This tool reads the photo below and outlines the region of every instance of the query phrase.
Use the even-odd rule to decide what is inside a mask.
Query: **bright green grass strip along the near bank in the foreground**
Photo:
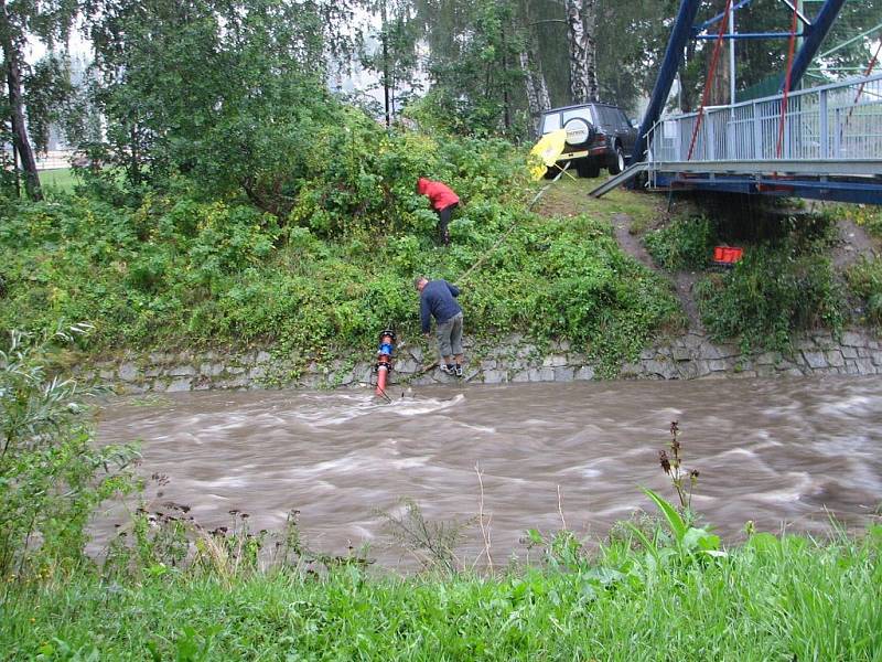
[[[724,558],[616,544],[493,577],[50,575],[3,590],[0,650],[42,660],[879,660],[880,552],[876,526],[825,544],[757,534]]]

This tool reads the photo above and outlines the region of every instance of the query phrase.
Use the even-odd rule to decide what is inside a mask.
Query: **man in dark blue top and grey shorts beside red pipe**
[[[435,321],[441,372],[461,377],[462,308],[456,303],[460,289],[442,278],[429,280],[426,276],[417,277],[413,285],[420,292],[420,323],[424,335],[429,335],[432,317]]]

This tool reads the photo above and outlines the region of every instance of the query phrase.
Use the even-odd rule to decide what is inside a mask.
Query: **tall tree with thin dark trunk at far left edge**
[[[0,0],[0,47],[3,52],[12,141],[24,169],[25,190],[33,200],[40,200],[42,193],[25,124],[24,46],[29,36],[49,46],[66,43],[78,12],[78,0]]]

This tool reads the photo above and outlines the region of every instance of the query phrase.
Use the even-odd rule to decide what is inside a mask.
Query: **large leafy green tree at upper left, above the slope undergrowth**
[[[104,160],[128,180],[175,173],[283,215],[311,130],[332,119],[325,81],[345,62],[346,2],[94,0]]]

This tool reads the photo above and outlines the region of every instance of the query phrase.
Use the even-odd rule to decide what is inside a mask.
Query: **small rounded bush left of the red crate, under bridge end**
[[[676,220],[648,233],[644,242],[656,264],[666,269],[701,269],[713,254],[717,231],[706,216]]]

